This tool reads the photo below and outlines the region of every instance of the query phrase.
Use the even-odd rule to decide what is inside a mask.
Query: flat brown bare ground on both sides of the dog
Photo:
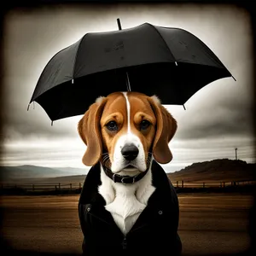
[[[240,253],[249,247],[250,195],[178,195],[183,255]],[[2,197],[3,236],[12,247],[81,253],[79,195]]]

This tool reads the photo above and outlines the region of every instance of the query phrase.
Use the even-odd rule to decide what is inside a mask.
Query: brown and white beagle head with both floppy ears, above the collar
[[[177,122],[156,96],[114,92],[99,97],[78,125],[87,148],[85,166],[99,160],[112,172],[148,169],[152,156],[160,164],[172,160],[168,146]]]

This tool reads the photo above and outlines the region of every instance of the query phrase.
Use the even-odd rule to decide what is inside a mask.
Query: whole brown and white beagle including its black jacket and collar
[[[177,121],[160,99],[130,91],[98,97],[78,131],[82,161],[92,166],[79,198],[83,253],[179,255],[177,194],[160,166],[172,160]]]

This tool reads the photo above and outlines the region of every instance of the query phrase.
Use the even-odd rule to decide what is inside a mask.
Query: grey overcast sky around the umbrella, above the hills
[[[170,143],[177,171],[193,162],[238,158],[254,162],[253,42],[250,16],[234,6],[109,4],[12,10],[3,30],[3,145],[1,165],[84,167],[77,132],[82,116],[51,126],[37,103],[26,111],[38,78],[55,53],[87,32],[117,30],[144,22],[180,27],[207,44],[236,78],[208,84],[182,106],[166,105],[177,119]]]

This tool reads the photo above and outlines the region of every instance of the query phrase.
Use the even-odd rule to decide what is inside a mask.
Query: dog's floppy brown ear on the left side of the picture
[[[78,125],[79,135],[87,146],[83,156],[85,166],[94,166],[102,155],[102,136],[100,119],[107,98],[101,97],[84,113]]]

